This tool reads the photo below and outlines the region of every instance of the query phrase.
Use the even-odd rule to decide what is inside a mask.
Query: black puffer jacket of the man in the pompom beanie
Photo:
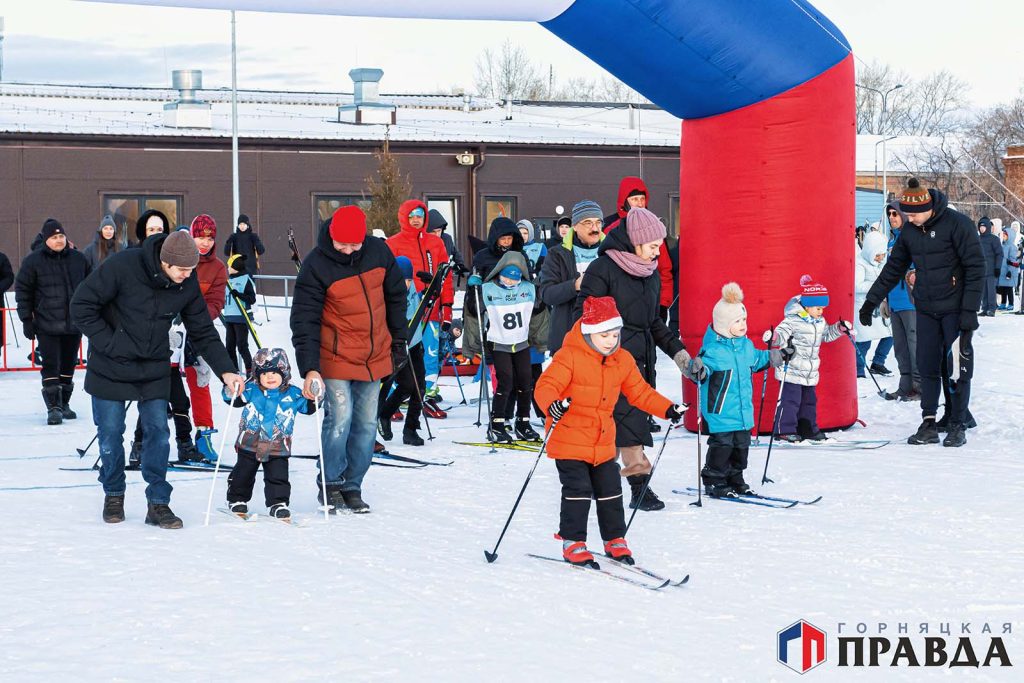
[[[986,273],[978,230],[970,218],[949,208],[942,191],[928,193],[934,214],[921,227],[910,222],[903,226],[866,300],[878,307],[912,263],[918,272],[913,303],[919,311],[977,311]]]

